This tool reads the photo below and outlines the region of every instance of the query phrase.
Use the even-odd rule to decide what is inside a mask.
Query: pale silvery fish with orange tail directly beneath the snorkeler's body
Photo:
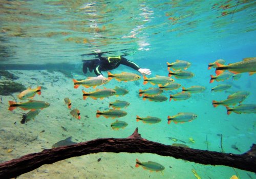
[[[82,85],[87,88],[93,86],[93,88],[95,88],[96,86],[106,84],[109,81],[110,80],[105,77],[88,77],[87,79],[81,80],[81,81],[77,81],[76,79],[73,79],[74,88],[78,88],[79,85]]]

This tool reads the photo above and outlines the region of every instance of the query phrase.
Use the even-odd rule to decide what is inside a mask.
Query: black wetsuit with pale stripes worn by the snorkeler
[[[94,71],[94,73],[97,76],[99,76],[99,75],[102,75],[101,71],[116,69],[120,64],[130,66],[134,70],[140,69],[140,67],[136,63],[129,61],[124,57],[120,57],[120,60],[118,60],[118,62],[117,61],[109,62],[107,57],[99,56],[99,59],[86,60],[83,62],[83,73],[87,73],[87,67],[88,67],[90,72]]]

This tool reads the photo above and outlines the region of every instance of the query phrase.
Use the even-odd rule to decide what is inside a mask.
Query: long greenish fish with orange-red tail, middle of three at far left
[[[14,101],[9,101],[9,104],[10,104],[9,110],[13,110],[16,107],[20,107],[23,110],[28,110],[28,109],[36,110],[36,109],[43,109],[43,108],[50,106],[50,104],[48,102],[35,101],[35,100],[30,100],[30,101],[24,102],[24,103],[16,103]]]

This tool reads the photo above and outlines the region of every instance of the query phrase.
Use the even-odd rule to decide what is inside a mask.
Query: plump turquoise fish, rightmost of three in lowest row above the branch
[[[168,124],[170,124],[170,122],[174,121],[175,124],[177,123],[184,123],[184,122],[190,122],[194,119],[197,118],[197,115],[194,113],[178,113],[175,116],[168,116],[167,120],[168,120]]]

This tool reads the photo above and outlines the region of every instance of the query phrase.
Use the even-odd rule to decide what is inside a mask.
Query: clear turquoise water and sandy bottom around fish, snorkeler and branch
[[[221,151],[220,135],[226,153],[244,153],[255,143],[255,114],[226,115],[223,106],[214,108],[212,100],[223,100],[236,91],[249,91],[243,103],[256,99],[255,75],[248,73],[234,81],[209,84],[209,62],[225,59],[226,63],[255,57],[255,1],[1,1],[0,2],[0,70],[8,70],[26,87],[41,85],[41,96],[35,100],[51,103],[33,121],[20,124],[22,109],[8,110],[13,96],[1,96],[0,104],[0,162],[40,152],[69,136],[73,141],[96,138],[126,138],[136,127],[147,140],[171,145],[169,137],[186,142],[190,148]],[[100,49],[107,56],[125,55],[142,68],[151,69],[152,75],[167,75],[166,61],[176,59],[191,62],[189,71],[195,77],[176,79],[182,86],[203,85],[206,91],[193,94],[185,101],[150,102],[138,96],[139,89],[152,87],[139,82],[117,82],[105,87],[120,86],[129,94],[103,100],[82,100],[81,89],[73,88],[72,77],[59,70],[67,70],[75,79],[94,76],[82,74],[82,60],[95,58],[88,55]],[[135,72],[120,66],[112,73]],[[62,71],[63,72],[63,71]],[[103,72],[107,76],[106,72]],[[2,77],[0,80],[5,80]],[[227,92],[211,93],[217,84],[231,84]],[[102,86],[98,87],[102,88]],[[93,91],[93,89],[85,89]],[[169,94],[180,92],[181,89]],[[63,102],[72,100],[79,108],[81,120],[72,118]],[[108,109],[115,99],[131,103],[128,115],[120,118],[128,123],[125,129],[114,131],[111,119],[96,118],[97,109]],[[167,116],[179,112],[196,113],[198,118],[184,124],[167,124]],[[136,122],[136,115],[156,116],[161,123],[146,125]],[[14,124],[16,122],[16,124]],[[65,127],[64,131],[61,126]],[[45,132],[41,132],[41,131]],[[195,143],[189,141],[193,138]],[[232,148],[236,145],[240,151]],[[9,149],[12,152],[7,152]],[[101,158],[100,162],[97,159]],[[135,159],[155,161],[165,167],[162,173],[135,168]],[[224,166],[204,166],[148,153],[97,153],[44,165],[19,178],[196,178],[195,169],[202,178],[256,178],[254,173]]]

